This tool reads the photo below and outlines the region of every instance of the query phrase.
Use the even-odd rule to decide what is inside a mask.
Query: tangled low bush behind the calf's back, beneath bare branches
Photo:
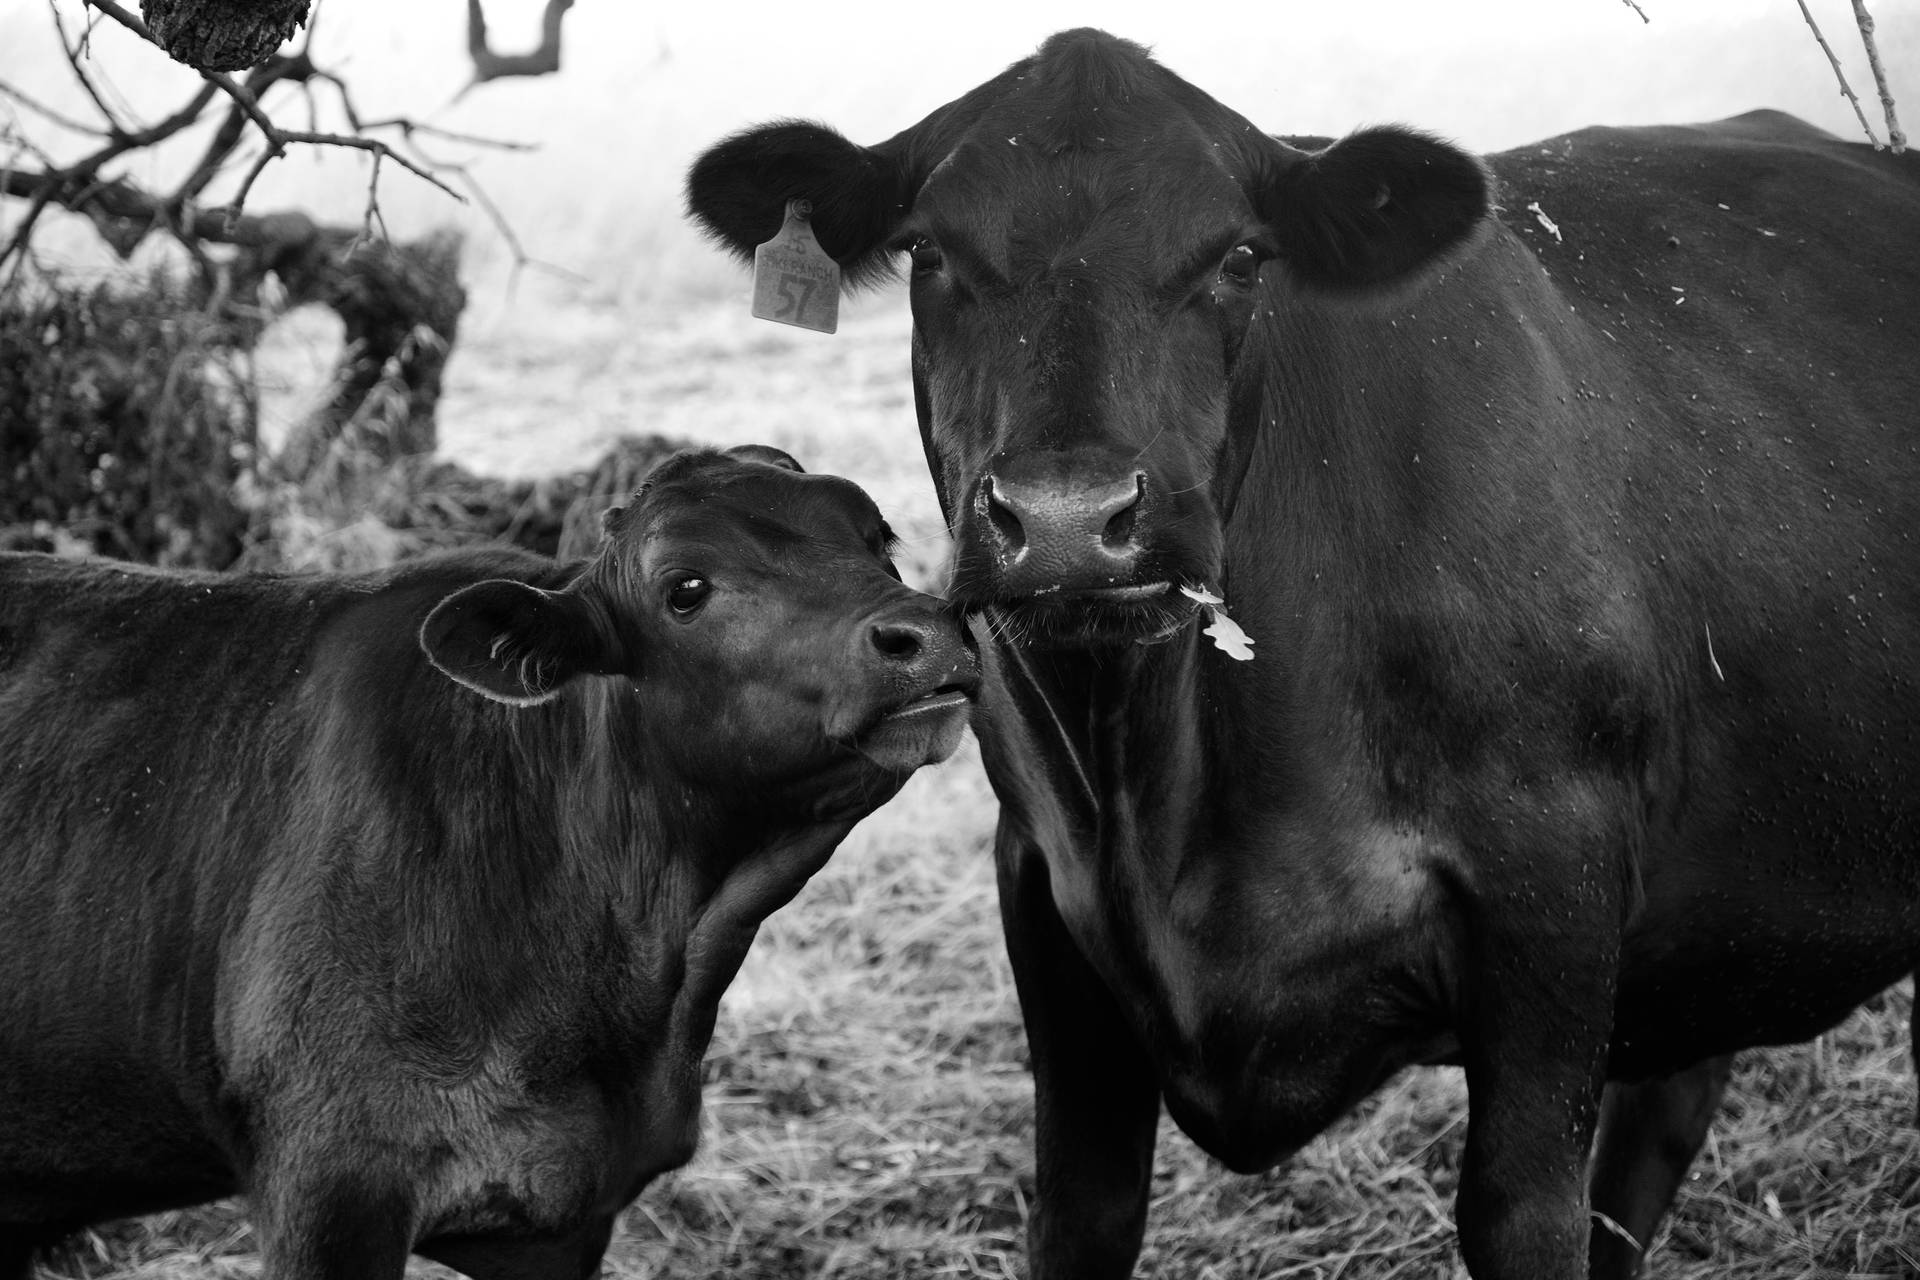
[[[0,551],[246,570],[380,568],[484,541],[578,557],[599,543],[601,512],[684,447],[624,436],[593,466],[541,480],[392,459],[372,418],[411,413],[396,386],[367,395],[371,426],[355,418],[286,476],[259,464],[244,342],[163,274],[0,305]]]

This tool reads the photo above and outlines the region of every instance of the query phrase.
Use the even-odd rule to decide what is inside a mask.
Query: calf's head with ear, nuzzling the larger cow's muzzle
[[[657,754],[693,781],[897,783],[952,754],[977,660],[952,612],[900,583],[889,539],[858,486],[778,449],[676,453],[607,514],[570,585],[465,587],[420,645],[461,685],[522,706],[618,677]]]

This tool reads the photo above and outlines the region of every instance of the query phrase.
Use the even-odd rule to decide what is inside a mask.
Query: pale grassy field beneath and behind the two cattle
[[[0,44],[23,31],[21,23],[0,19]],[[1887,25],[1905,33],[1905,65],[1920,65],[1912,52],[1920,25]],[[1006,61],[1025,42],[1002,44],[995,44],[995,58]],[[1749,50],[1747,61],[1753,58]],[[0,54],[0,69],[4,63]],[[659,75],[682,77],[676,84],[684,90],[687,65],[699,71],[712,63],[695,59]],[[1791,75],[1797,84],[1801,71]],[[958,81],[927,92],[954,86]],[[526,109],[526,94],[540,92],[547,90],[516,96],[515,86],[497,94],[493,107],[480,102],[476,109],[493,111],[493,119],[472,127],[515,132],[509,121],[532,119],[559,132],[555,123],[570,107]],[[831,113],[833,106],[741,107],[739,117],[722,119],[720,90],[672,107],[662,102],[674,84],[636,92],[655,94],[641,106],[659,109],[659,129],[691,142],[739,119]],[[1822,83],[1820,94],[1832,96],[1830,86]],[[877,96],[872,90],[839,106],[877,119]],[[1753,102],[1736,104],[1743,106]],[[624,100],[618,109],[637,107]],[[1680,117],[1715,111],[1692,100],[1676,107]],[[1332,115],[1298,127],[1379,119],[1346,107]],[[591,115],[566,119],[568,132],[595,129]],[[1490,138],[1532,132],[1511,125],[1511,115],[1503,121],[1505,132]],[[503,184],[561,190],[564,184],[549,178],[574,163],[572,144],[578,138],[538,161],[545,165],[540,178],[507,171]],[[605,154],[597,159],[605,163]],[[639,159],[637,167],[668,177],[637,178],[622,169],[582,209],[559,211],[564,192],[547,200],[520,192],[518,203],[505,201],[530,251],[578,276],[522,271],[509,286],[501,246],[474,232],[476,297],[449,368],[444,453],[480,470],[532,474],[589,459],[622,430],[720,445],[776,443],[814,470],[862,482],[904,535],[902,568],[916,581],[937,581],[945,537],[912,424],[908,322],[897,292],[852,303],[835,338],[749,320],[737,276],[674,225],[672,173],[684,155]],[[499,163],[490,163],[499,177]],[[307,178],[307,190],[296,186],[292,196],[319,186]],[[357,192],[355,180],[346,200]],[[432,217],[419,213],[422,207],[415,196],[396,200],[396,223]],[[480,228],[472,219],[468,225]],[[593,244],[611,248],[595,253],[586,248]],[[290,317],[269,344],[263,368],[280,380],[269,388],[280,413],[292,413],[311,390],[300,370],[323,370],[326,344],[326,322],[315,315]],[[970,743],[862,823],[806,892],[762,929],[708,1054],[703,1150],[626,1215],[609,1276],[1025,1274],[1033,1098],[998,936],[993,818]],[[1910,1009],[1910,988],[1901,984],[1811,1046],[1741,1057],[1713,1138],[1655,1242],[1649,1274],[1920,1276]],[[1453,1071],[1409,1073],[1290,1165],[1258,1178],[1227,1174],[1165,1125],[1140,1274],[1463,1276],[1452,1226],[1463,1125],[1465,1090]],[[48,1259],[42,1274],[253,1276],[257,1261],[238,1207],[215,1205],[90,1232]],[[451,1272],[417,1263],[413,1274]]]

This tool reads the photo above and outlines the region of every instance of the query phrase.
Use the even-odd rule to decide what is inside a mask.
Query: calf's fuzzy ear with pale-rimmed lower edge
[[[420,649],[455,683],[513,706],[545,702],[576,676],[622,668],[618,639],[591,603],[507,578],[440,601],[420,624]]]

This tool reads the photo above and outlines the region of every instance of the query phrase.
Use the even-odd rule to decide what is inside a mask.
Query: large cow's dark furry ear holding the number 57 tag
[[[776,121],[707,148],[687,173],[687,215],[722,246],[753,261],[787,217],[789,200],[812,203],[820,248],[847,284],[889,273],[887,238],[906,217],[899,161],[810,121]]]

